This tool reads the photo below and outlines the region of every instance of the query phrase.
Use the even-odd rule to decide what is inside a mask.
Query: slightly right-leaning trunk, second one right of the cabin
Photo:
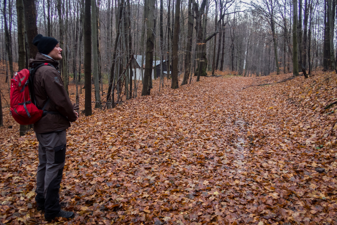
[[[187,25],[187,42],[185,52],[185,72],[181,85],[187,84],[191,68],[191,52],[192,52],[192,33],[193,33],[193,17],[192,17],[192,0],[188,0],[188,25]]]

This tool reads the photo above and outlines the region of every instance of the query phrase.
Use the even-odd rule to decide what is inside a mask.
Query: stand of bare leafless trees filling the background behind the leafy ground
[[[164,76],[172,78],[171,88],[178,88],[179,82],[191,81],[191,74],[199,81],[217,70],[253,76],[279,74],[283,69],[296,75],[303,72],[305,77],[318,68],[336,70],[336,0],[248,4],[237,0],[158,0],[158,4],[154,0],[3,0],[0,4],[7,74],[13,76],[13,63],[24,68],[35,57],[31,40],[37,33],[55,37],[64,50],[60,72],[68,92],[71,76],[73,82],[78,77],[76,93],[82,91],[84,68],[86,115],[92,114],[92,86],[95,107],[115,107],[115,102],[136,97],[138,85],[142,95],[150,95],[156,84],[152,83],[156,60],[160,60],[160,72],[153,74],[160,76],[161,88]],[[132,70],[135,54],[140,56],[141,75]],[[142,81],[136,81],[136,76]]]

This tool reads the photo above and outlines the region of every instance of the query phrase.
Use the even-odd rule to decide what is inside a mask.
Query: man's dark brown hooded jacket
[[[36,67],[40,63],[51,63],[38,68],[34,74],[34,96],[36,106],[40,109],[50,98],[45,107],[47,111],[57,111],[59,114],[45,114],[39,121],[34,123],[36,133],[46,133],[57,130],[65,130],[70,127],[70,122],[76,121],[74,107],[64,89],[61,74],[56,70],[59,63],[40,53],[35,59],[29,60],[29,67]]]

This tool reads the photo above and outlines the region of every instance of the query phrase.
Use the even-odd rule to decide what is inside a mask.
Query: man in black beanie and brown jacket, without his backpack
[[[71,219],[74,218],[73,212],[61,210],[59,191],[65,164],[66,129],[78,118],[75,110],[79,105],[71,104],[63,87],[57,62],[62,59],[59,42],[38,34],[33,44],[39,53],[35,60],[29,60],[29,66],[34,68],[45,64],[36,70],[33,78],[36,106],[44,107],[42,118],[34,124],[39,141],[35,201],[37,210],[44,210],[45,220],[52,221],[55,217]]]

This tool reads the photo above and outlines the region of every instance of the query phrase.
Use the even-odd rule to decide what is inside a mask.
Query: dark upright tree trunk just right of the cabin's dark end
[[[174,19],[173,43],[172,43],[172,81],[171,88],[179,88],[178,84],[178,44],[179,44],[179,22],[180,22],[180,0],[176,0],[176,17]],[[154,68],[156,69],[156,68]]]

